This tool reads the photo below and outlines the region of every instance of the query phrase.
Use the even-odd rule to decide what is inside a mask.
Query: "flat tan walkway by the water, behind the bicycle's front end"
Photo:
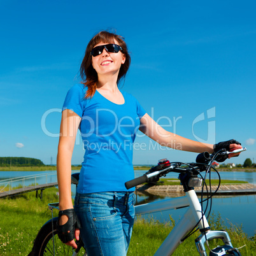
[[[215,192],[217,185],[211,185],[211,192]],[[160,194],[185,194],[183,192],[183,186],[181,185],[163,185],[163,186],[153,186],[149,187],[148,185],[139,185],[137,188],[138,192],[146,191],[150,194],[160,195]],[[202,187],[195,188],[196,194],[201,195]],[[209,186],[208,186],[209,192]],[[206,188],[204,187],[203,194],[207,194]],[[249,195],[256,194],[256,185],[245,183],[245,184],[228,184],[220,185],[217,195]],[[181,195],[180,195],[181,196]]]

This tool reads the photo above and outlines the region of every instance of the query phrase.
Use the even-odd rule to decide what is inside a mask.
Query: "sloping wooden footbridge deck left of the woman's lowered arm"
[[[31,192],[31,191],[36,191],[36,197],[38,197],[38,190],[41,190],[40,197],[42,199],[43,190],[45,188],[55,187],[57,185],[58,185],[57,182],[53,182],[53,183],[46,183],[46,184],[41,184],[41,185],[28,186],[28,187],[24,187],[24,188],[17,188],[17,189],[13,189],[13,190],[6,191],[6,192],[1,192],[0,198],[8,197],[8,196],[17,196],[18,194],[23,194],[23,193],[27,193],[27,192]]]

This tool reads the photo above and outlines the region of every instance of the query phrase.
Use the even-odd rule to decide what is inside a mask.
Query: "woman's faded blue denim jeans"
[[[78,194],[75,211],[89,256],[125,256],[134,223],[133,192]]]

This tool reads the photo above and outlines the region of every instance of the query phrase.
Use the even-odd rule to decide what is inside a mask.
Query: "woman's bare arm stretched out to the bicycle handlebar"
[[[168,132],[157,124],[148,114],[145,114],[141,118],[139,130],[162,146],[168,146],[169,148],[188,152],[201,153],[208,151],[209,153],[213,153],[213,144],[192,141],[191,139],[183,138],[177,134]],[[241,148],[241,145],[231,144],[230,148]],[[238,154],[231,154],[229,156],[233,157],[234,155]]]

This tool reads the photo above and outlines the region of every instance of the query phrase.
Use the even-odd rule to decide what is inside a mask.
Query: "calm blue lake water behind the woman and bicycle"
[[[74,171],[76,173],[78,171]],[[8,178],[15,178],[20,176],[28,176],[35,174],[46,174],[46,173],[56,173],[56,171],[0,171],[0,183],[1,180]],[[145,171],[135,171],[135,176],[141,176]],[[167,178],[177,178],[178,174],[169,173]],[[220,176],[224,180],[243,180],[249,183],[256,183],[256,173],[243,173],[243,172],[221,172]],[[51,177],[51,178],[50,178]],[[217,174],[212,173],[211,177],[213,179],[217,178]],[[41,183],[44,183],[45,178],[41,178]],[[31,183],[31,180],[25,181]],[[37,178],[37,183],[40,183],[40,178]],[[48,176],[48,183],[55,182],[54,175]],[[75,195],[75,185],[72,185],[72,192]],[[137,196],[137,202],[143,203],[146,201],[159,201],[163,199],[168,199],[170,197],[157,197],[157,196]],[[49,202],[50,203],[50,202]],[[256,195],[250,196],[223,196],[213,198],[213,210],[215,214],[220,213],[221,217],[225,220],[228,225],[230,221],[232,224],[238,224],[243,226],[243,231],[248,234],[248,236],[253,236],[256,232],[256,225],[254,221],[254,216],[256,212]],[[160,222],[168,222],[169,215],[177,222],[180,217],[185,212],[185,209],[180,210],[169,210],[160,213],[153,213],[152,215],[145,215],[145,218],[156,218]],[[228,219],[228,220],[227,220]]]

